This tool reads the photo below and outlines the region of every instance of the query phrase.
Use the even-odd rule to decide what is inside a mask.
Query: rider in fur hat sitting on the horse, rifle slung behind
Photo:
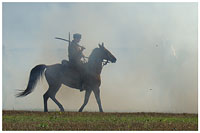
[[[85,49],[83,46],[79,45],[81,40],[81,34],[76,33],[73,35],[73,40],[68,46],[68,57],[69,62],[77,68],[77,70],[81,74],[81,88],[80,91],[83,91],[83,62],[82,58],[84,58],[83,50]]]

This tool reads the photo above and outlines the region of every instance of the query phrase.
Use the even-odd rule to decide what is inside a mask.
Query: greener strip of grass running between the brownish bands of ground
[[[163,116],[163,117],[152,117],[152,116],[121,116],[118,117],[116,115],[106,115],[106,116],[65,116],[64,115],[31,115],[31,116],[23,116],[23,115],[15,115],[15,116],[4,116],[3,121],[4,122],[25,122],[25,121],[40,121],[40,122],[110,122],[110,123],[130,123],[130,122],[174,122],[174,123],[193,123],[198,124],[198,118],[197,117],[169,117],[169,116]]]

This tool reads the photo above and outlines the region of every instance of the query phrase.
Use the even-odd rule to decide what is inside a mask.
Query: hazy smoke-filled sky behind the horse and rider
[[[117,58],[101,73],[105,112],[198,112],[198,3],[3,3],[2,103],[6,110],[43,111],[43,78],[28,96],[30,71],[68,59],[55,37],[81,33],[84,54],[104,42]],[[78,111],[84,92],[62,86],[56,98]],[[51,111],[59,108],[48,101]],[[84,111],[98,111],[94,95]]]

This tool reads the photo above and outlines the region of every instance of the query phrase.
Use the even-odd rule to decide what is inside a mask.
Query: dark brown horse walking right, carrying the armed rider
[[[101,71],[104,65],[110,62],[115,63],[116,60],[115,56],[104,47],[103,43],[99,44],[99,47],[93,49],[88,61],[84,64],[84,74],[82,74],[84,79],[83,86],[81,86],[82,81],[80,71],[66,60],[66,63],[58,63],[49,66],[45,64],[37,65],[30,72],[27,88],[16,96],[24,97],[30,94],[36,87],[38,80],[45,75],[49,88],[43,95],[44,112],[48,112],[47,101],[49,98],[56,103],[61,112],[64,111],[61,103],[55,98],[56,93],[62,84],[78,90],[83,87],[85,98],[79,112],[82,112],[88,103],[91,92],[95,95],[99,112],[103,112],[100,99]]]

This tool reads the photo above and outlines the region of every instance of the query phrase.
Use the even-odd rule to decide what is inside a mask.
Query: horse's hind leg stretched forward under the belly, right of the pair
[[[56,99],[56,93],[58,92],[58,90],[60,89],[60,84],[58,85],[54,85],[51,87],[51,89],[49,90],[49,97],[56,103],[56,105],[60,108],[61,112],[64,112],[64,108],[63,106],[58,102],[58,100]]]

